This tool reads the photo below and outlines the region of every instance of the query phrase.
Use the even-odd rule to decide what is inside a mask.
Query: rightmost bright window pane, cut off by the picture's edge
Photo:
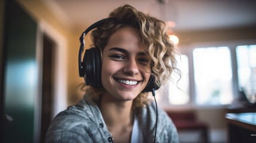
[[[250,102],[256,98],[256,45],[237,46],[238,83]]]

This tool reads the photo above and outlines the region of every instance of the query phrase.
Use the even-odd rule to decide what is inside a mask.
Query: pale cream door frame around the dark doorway
[[[45,21],[38,21],[36,41],[36,63],[38,65],[38,95],[35,98],[35,134],[34,141],[41,138],[41,107],[42,107],[42,50],[43,37],[47,35],[55,42],[54,67],[54,97],[53,114],[55,117],[60,111],[67,108],[67,40]]]

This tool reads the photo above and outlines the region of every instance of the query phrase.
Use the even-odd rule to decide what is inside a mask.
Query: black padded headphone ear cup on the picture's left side
[[[85,67],[85,83],[95,88],[99,88],[101,86],[100,49],[87,49],[85,51],[82,66]]]

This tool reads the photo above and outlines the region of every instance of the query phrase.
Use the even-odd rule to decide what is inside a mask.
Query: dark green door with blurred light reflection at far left
[[[4,34],[4,142],[34,142],[36,22],[7,0]]]

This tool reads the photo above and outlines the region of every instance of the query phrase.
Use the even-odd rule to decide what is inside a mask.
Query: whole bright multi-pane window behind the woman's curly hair
[[[168,95],[159,98],[162,107],[232,104],[238,86],[250,102],[256,102],[256,45],[226,45],[183,49],[186,55],[176,57],[181,79],[172,73],[172,80],[161,86],[160,95]]]

